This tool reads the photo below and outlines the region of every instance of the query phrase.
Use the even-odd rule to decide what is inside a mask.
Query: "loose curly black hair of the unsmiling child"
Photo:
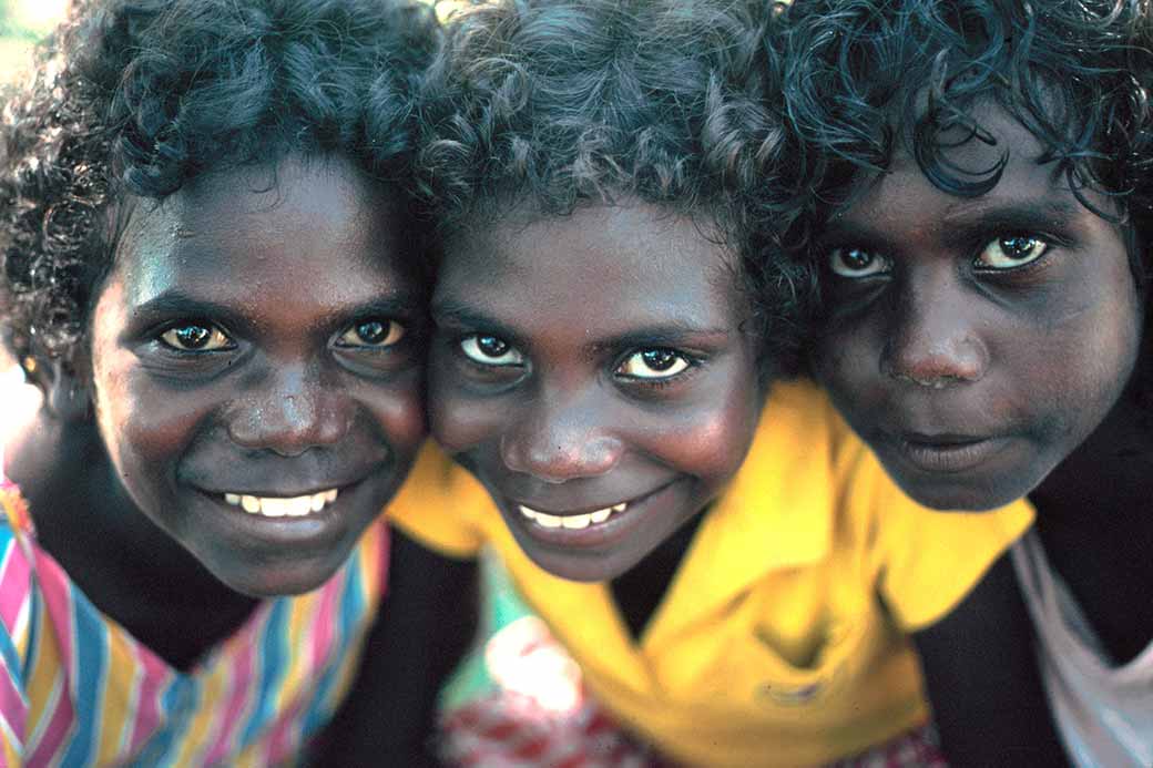
[[[805,236],[852,204],[909,148],[939,189],[993,189],[1007,156],[958,168],[945,150],[993,137],[995,104],[1043,148],[1090,210],[1122,223],[1138,287],[1153,266],[1153,7],[1148,0],[805,0],[777,39],[784,98],[811,201]],[[1106,210],[1085,190],[1105,196]],[[1100,199],[1100,198],[1098,198]],[[1153,405],[1153,317],[1135,378]]]

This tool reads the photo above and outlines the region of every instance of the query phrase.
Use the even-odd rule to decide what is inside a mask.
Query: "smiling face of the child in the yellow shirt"
[[[434,294],[434,435],[537,565],[611,579],[745,457],[744,306],[725,251],[648,205],[466,227]]]

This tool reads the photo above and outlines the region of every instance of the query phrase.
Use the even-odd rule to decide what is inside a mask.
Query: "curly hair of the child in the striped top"
[[[25,362],[68,360],[111,266],[116,204],[212,171],[339,152],[407,175],[439,42],[389,0],[77,0],[0,118],[0,317]]]

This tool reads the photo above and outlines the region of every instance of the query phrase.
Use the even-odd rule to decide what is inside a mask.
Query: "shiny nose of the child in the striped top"
[[[281,364],[257,378],[229,414],[228,432],[238,445],[292,457],[348,435],[352,401],[341,387],[325,385],[317,371]]]

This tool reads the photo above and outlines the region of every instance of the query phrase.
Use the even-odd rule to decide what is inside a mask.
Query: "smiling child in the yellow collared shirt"
[[[452,502],[394,519],[493,548],[593,694],[694,765],[817,765],[921,726],[902,631],[1030,519],[917,507],[815,387],[773,384],[802,287],[754,226],[760,189],[794,182],[771,24],[759,0],[488,3],[422,99],[431,426],[474,477],[425,455]],[[895,557],[906,540],[925,556]]]

